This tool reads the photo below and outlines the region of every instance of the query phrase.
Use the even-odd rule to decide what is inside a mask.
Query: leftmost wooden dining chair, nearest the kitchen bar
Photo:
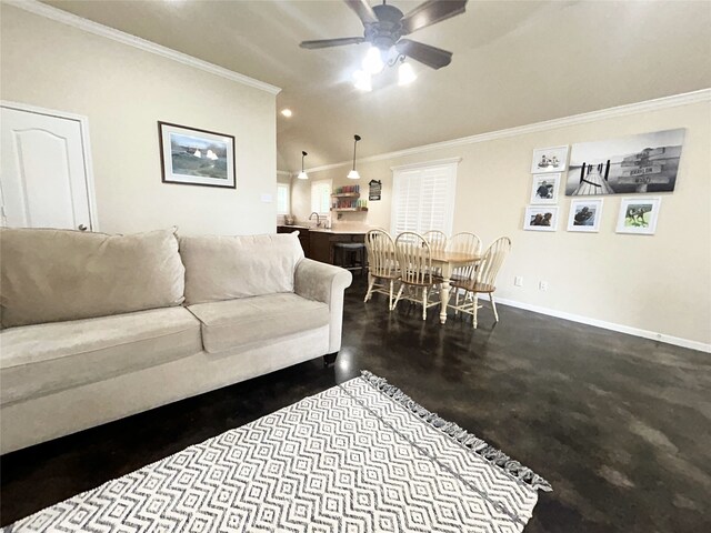
[[[388,294],[388,310],[392,311],[393,284],[400,279],[400,271],[395,258],[395,244],[392,237],[384,230],[370,230],[365,234],[365,250],[368,251],[368,292],[367,302],[374,292]]]

